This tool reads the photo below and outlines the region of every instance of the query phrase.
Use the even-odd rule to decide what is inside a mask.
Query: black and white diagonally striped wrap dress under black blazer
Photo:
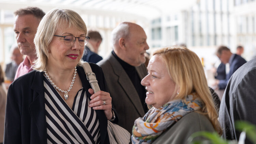
[[[84,88],[77,92],[72,109],[46,77],[44,92],[48,144],[100,143],[99,120],[95,110],[88,107]]]

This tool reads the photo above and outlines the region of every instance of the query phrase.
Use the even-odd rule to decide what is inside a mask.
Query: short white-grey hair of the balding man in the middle
[[[129,24],[126,22],[119,24],[116,28],[113,29],[111,35],[112,46],[115,48],[118,45],[120,38],[129,37]]]

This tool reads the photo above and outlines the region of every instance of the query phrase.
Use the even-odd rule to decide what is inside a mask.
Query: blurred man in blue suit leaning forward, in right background
[[[232,74],[246,63],[246,60],[237,54],[232,54],[226,46],[219,46],[216,55],[223,64],[229,63],[229,72],[226,71],[226,78],[215,82],[217,89],[225,89]]]

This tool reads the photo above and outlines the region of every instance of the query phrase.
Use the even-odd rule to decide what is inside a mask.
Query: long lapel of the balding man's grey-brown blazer
[[[134,88],[129,76],[126,74],[125,70],[113,54],[110,54],[108,59],[112,65],[114,73],[118,76],[118,83],[124,89],[125,93],[130,98],[132,104],[134,105],[140,116],[143,117],[145,115],[145,112],[139,99],[139,95],[136,89]],[[136,67],[136,70],[138,72],[138,67]],[[141,78],[142,75],[139,72],[138,74]]]

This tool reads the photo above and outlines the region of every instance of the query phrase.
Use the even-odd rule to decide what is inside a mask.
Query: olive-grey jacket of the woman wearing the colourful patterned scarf
[[[191,134],[198,131],[214,132],[210,120],[197,112],[191,112],[163,132],[152,144],[187,144]],[[196,137],[193,140],[204,139]]]

